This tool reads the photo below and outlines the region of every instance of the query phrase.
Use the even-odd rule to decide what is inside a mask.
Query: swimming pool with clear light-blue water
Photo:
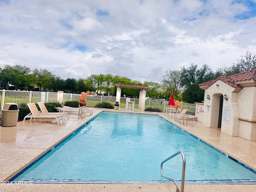
[[[102,112],[15,181],[159,183],[160,163],[182,150],[186,183],[253,183],[256,174],[156,115]],[[164,164],[180,180],[182,159]]]

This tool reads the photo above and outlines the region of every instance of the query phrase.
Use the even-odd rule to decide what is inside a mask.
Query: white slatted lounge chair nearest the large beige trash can
[[[58,125],[59,120],[61,119],[62,122],[64,122],[63,116],[62,114],[56,114],[56,115],[48,115],[48,114],[40,114],[40,112],[38,111],[36,104],[34,103],[28,103],[28,108],[30,110],[30,114],[26,115],[23,119],[23,122],[26,120],[26,118],[30,118],[30,120],[32,120],[32,118],[52,118],[52,119],[56,119]]]

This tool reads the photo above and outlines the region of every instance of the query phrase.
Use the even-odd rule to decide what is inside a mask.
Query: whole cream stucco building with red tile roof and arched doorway
[[[204,102],[196,103],[197,120],[230,136],[256,141],[256,69],[220,76],[199,85]]]

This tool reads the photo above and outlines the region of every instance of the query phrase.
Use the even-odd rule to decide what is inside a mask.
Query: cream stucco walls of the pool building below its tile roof
[[[202,120],[202,124],[208,128],[218,128],[220,114],[221,132],[256,141],[256,87],[252,83],[247,84],[248,87],[244,85],[242,90],[236,90],[221,80],[212,84],[204,92],[204,113],[202,117],[198,114],[198,121]],[[228,100],[222,101],[225,94]]]

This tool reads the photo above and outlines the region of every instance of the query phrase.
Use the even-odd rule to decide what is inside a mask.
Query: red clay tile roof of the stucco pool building
[[[212,80],[212,81],[208,81],[208,82],[199,84],[199,87],[207,86],[205,88],[205,89],[207,89],[218,80],[221,80],[222,82],[224,82],[234,88],[242,89],[243,87],[239,85],[240,82],[246,81],[246,80],[256,81],[256,69],[248,70],[248,71],[230,75],[230,76],[220,76],[216,80]]]

